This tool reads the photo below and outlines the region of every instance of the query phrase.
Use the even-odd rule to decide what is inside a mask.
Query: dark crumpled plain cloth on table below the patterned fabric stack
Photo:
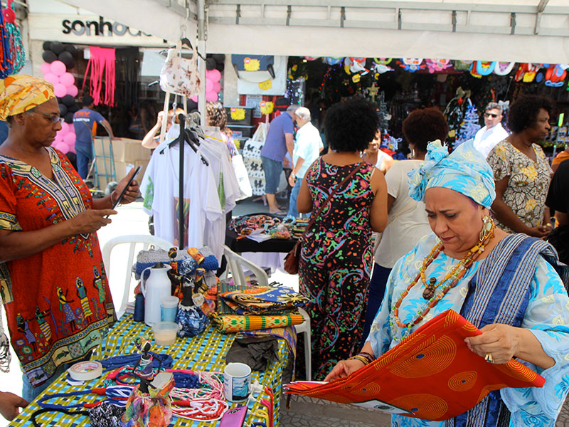
[[[265,371],[269,362],[279,360],[277,337],[235,338],[225,356],[225,362],[248,364],[252,371]]]

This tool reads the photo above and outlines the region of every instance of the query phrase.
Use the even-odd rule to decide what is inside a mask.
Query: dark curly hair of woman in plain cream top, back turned
[[[449,125],[445,116],[436,107],[413,110],[403,121],[403,135],[415,149],[427,152],[427,144],[435,139],[445,142]]]

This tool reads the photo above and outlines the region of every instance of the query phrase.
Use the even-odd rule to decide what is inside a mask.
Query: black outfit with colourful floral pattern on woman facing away
[[[308,170],[315,212],[357,165],[320,158]],[[369,223],[373,165],[344,184],[307,231],[299,261],[300,291],[309,297],[312,376],[322,380],[341,359],[357,352],[366,315],[373,253]]]

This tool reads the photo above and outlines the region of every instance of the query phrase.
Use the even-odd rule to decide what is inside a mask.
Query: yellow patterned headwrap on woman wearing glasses
[[[53,85],[26,74],[13,74],[0,80],[0,120],[31,110],[54,98]]]

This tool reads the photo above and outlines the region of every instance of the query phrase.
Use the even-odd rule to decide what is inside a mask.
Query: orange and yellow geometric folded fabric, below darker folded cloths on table
[[[228,332],[294,326],[304,322],[302,315],[238,316],[213,314],[211,320],[216,325],[216,329],[224,334]]]

